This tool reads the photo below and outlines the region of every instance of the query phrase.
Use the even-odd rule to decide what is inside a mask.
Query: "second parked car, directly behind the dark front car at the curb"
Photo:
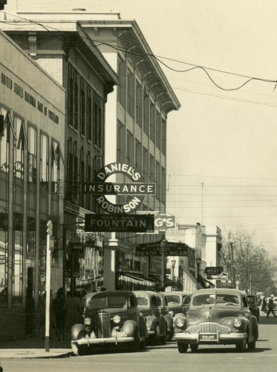
[[[146,320],[149,343],[166,344],[167,322],[159,306],[160,297],[151,291],[134,291],[134,294],[137,298],[137,307]]]

